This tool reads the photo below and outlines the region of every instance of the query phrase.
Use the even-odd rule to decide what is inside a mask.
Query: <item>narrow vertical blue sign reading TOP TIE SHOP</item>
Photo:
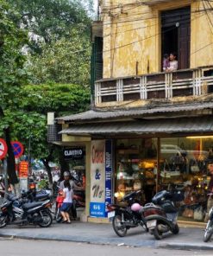
[[[105,208],[112,203],[112,141],[106,140],[105,149]],[[107,210],[105,210],[107,216]]]

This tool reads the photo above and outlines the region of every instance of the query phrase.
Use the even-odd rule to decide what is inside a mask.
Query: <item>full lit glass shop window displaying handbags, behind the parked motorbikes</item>
[[[178,189],[179,220],[204,221],[212,136],[116,139],[115,200],[142,189],[141,203],[162,189]]]

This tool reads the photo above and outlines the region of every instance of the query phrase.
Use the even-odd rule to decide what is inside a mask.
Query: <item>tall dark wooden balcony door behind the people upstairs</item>
[[[191,8],[161,12],[161,53],[178,54],[179,69],[190,67]]]

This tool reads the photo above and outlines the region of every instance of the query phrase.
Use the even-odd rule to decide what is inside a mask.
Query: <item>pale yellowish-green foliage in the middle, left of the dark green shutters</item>
[[[91,42],[77,30],[70,37],[41,44],[42,54],[31,55],[28,71],[35,84],[53,81],[89,86]]]

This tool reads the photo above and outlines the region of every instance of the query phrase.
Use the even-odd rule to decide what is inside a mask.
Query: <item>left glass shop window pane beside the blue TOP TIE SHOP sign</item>
[[[141,203],[151,202],[157,175],[157,139],[129,138],[116,141],[116,202],[143,189]]]

